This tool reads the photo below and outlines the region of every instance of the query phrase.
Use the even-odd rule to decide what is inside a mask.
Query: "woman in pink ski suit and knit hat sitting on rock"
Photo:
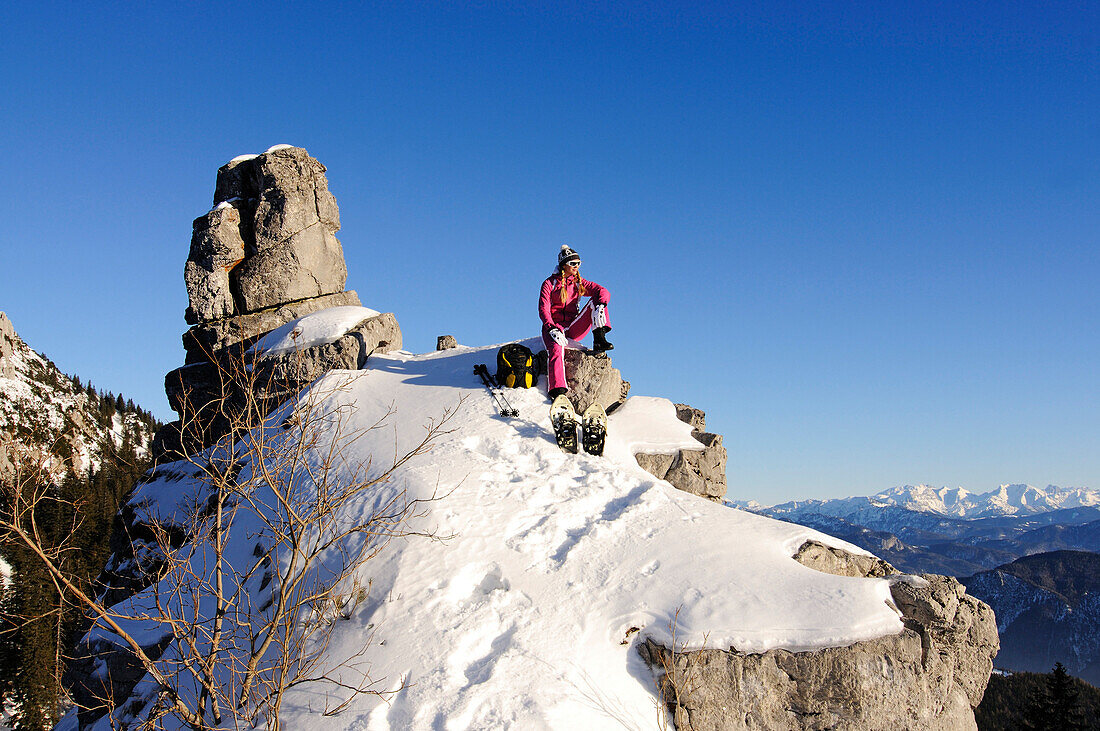
[[[588,301],[581,308],[581,298]],[[581,277],[581,255],[562,245],[558,268],[542,283],[539,292],[539,318],[542,320],[542,343],[547,346],[547,379],[550,398],[569,390],[565,383],[564,351],[569,341],[584,337],[592,330],[592,350],[603,353],[614,347],[607,342],[608,293],[604,287]]]

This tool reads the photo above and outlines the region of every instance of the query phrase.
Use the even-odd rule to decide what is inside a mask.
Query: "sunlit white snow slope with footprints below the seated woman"
[[[336,625],[333,657],[355,656],[384,679],[380,689],[403,689],[323,716],[333,689],[306,686],[284,705],[286,728],[652,728],[653,677],[635,650],[641,636],[760,652],[902,630],[888,582],[791,558],[811,538],[866,552],[642,470],[634,451],[693,445],[670,401],[631,398],[609,418],[605,457],[566,455],[552,440],[543,391],[509,390],[521,416],[497,416],[473,375],[495,350],[374,355],[367,370],[315,385],[342,384],[326,405],[354,407],[351,427],[396,410],[393,430],[367,433],[352,461],[392,459],[429,419],[458,408],[452,431],[386,488],[437,496],[416,527],[449,538],[391,543],[359,577],[369,596]],[[154,480],[135,499],[170,502],[180,490]]]

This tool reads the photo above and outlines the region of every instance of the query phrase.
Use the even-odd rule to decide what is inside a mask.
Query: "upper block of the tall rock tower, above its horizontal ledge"
[[[324,171],[300,147],[218,170],[215,209],[196,220],[185,267],[188,323],[343,291],[340,213]]]

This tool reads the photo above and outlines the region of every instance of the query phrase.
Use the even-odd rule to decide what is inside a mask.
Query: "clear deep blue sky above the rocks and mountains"
[[[1100,7],[22,3],[0,310],[172,417],[217,168],[329,168],[406,347],[537,333],[560,244],[732,499],[1100,488]]]

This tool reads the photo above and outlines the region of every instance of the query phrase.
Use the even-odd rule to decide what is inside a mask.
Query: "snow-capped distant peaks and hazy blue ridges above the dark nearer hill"
[[[1035,553],[1100,551],[1100,491],[1088,488],[1004,485],[974,494],[921,485],[870,497],[734,505],[844,539],[909,573],[970,576]]]

